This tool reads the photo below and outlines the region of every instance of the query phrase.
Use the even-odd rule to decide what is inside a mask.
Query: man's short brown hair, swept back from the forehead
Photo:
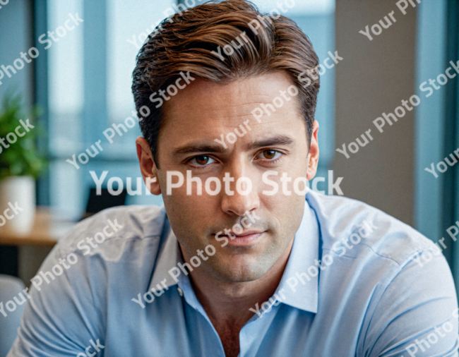
[[[234,53],[222,51],[225,45],[231,46]],[[208,2],[163,20],[137,55],[132,84],[138,117],[145,116],[140,121],[143,137],[150,145],[155,164],[159,167],[157,138],[165,106],[153,103],[150,95],[166,90],[181,76],[180,72],[226,84],[284,71],[299,90],[299,109],[304,114],[310,144],[319,88],[317,66],[318,58],[309,38],[293,20],[280,15],[263,17],[249,1]],[[306,80],[308,85],[304,85]]]

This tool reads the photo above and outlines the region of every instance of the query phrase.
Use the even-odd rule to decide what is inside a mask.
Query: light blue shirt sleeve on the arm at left
[[[7,357],[86,356],[86,351],[88,356],[103,356],[99,346],[105,317],[97,294],[104,286],[94,273],[102,271],[100,264],[91,267],[81,253],[62,253],[58,244],[34,278],[38,286],[31,285],[18,337]]]

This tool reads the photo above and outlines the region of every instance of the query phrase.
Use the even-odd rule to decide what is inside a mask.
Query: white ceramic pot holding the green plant
[[[0,228],[30,233],[35,219],[35,179],[10,176],[0,181]]]

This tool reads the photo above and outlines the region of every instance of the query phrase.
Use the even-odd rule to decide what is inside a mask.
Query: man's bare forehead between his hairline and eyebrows
[[[278,132],[280,126],[291,126],[294,121],[304,125],[297,98],[284,101],[282,107],[273,107],[275,110],[263,115],[261,120],[254,116],[254,111],[261,111],[263,106],[273,106],[280,91],[285,92],[291,85],[288,75],[282,72],[227,84],[196,80],[167,102],[159,139],[174,137],[177,143],[171,146],[177,147],[192,139],[213,141],[239,130],[239,133],[248,132],[243,140],[246,141],[253,135]]]

